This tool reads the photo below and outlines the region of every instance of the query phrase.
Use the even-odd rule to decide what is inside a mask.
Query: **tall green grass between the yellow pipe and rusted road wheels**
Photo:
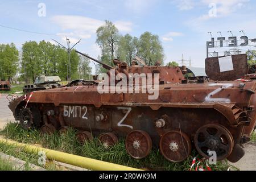
[[[171,163],[164,159],[157,148],[153,148],[150,155],[144,159],[137,160],[131,158],[131,156],[127,154],[123,138],[121,138],[115,146],[105,149],[97,138],[93,138],[92,141],[85,142],[85,144],[80,144],[76,139],[76,131],[73,129],[69,129],[66,134],[54,133],[52,135],[41,135],[37,130],[24,130],[17,123],[8,123],[0,134],[18,142],[31,144],[37,143],[52,150],[150,170],[188,170],[192,163],[192,156],[196,155],[196,152],[193,151],[192,156],[189,156],[184,162]],[[210,167],[213,170],[226,170],[228,169],[229,164],[225,160],[224,162],[218,162],[217,165]]]

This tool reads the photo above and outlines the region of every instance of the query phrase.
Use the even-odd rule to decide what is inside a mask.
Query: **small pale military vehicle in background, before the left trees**
[[[60,81],[59,76],[39,76],[36,77],[34,84],[24,85],[23,92],[29,93],[38,90],[59,88],[61,86]]]

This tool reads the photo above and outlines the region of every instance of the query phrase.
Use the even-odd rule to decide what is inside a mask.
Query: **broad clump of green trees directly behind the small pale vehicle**
[[[34,82],[41,75],[59,76],[61,80],[67,80],[68,53],[60,46],[55,46],[42,40],[26,42],[22,47],[22,70],[26,82]],[[71,75],[72,79],[78,78],[77,67],[79,55],[75,50],[71,51]],[[69,70],[68,70],[69,71]]]

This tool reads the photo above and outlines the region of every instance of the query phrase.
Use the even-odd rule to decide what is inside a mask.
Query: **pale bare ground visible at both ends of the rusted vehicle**
[[[13,113],[11,113],[6,99],[6,94],[0,94],[0,129],[6,125],[7,122],[14,122]],[[253,170],[256,171],[256,142],[249,142],[245,144],[245,156],[237,163],[230,163],[239,168],[241,171]]]

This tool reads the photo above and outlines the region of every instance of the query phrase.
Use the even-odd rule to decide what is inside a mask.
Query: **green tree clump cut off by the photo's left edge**
[[[13,78],[18,69],[18,49],[14,43],[0,44],[0,80]]]

